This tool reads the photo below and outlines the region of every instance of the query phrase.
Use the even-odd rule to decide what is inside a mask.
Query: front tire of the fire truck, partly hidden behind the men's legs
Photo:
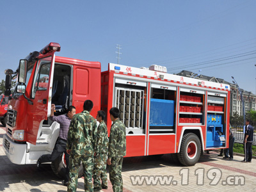
[[[65,178],[66,174],[66,161],[65,161],[65,154],[63,153],[60,155],[55,161],[52,161],[51,168],[52,172],[54,172],[55,175],[60,177],[61,179]],[[78,171],[78,178],[83,176],[83,165],[81,164],[79,171]]]

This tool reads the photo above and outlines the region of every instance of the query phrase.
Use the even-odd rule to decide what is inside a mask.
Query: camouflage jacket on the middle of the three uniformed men
[[[108,153],[108,128],[104,121],[98,126],[95,152],[97,154]]]

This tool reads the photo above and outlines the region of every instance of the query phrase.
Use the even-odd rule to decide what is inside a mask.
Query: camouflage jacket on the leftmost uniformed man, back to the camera
[[[68,129],[67,150],[71,156],[93,155],[97,141],[97,122],[88,111],[73,116]]]

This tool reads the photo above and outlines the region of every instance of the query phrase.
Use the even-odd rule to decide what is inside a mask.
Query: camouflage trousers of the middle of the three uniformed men
[[[108,187],[107,159],[108,153],[100,153],[94,156],[93,188],[95,189],[102,189],[102,186]],[[102,184],[100,184],[100,179]]]

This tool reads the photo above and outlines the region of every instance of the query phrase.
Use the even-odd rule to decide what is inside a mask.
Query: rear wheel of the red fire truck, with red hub
[[[201,154],[201,143],[196,134],[189,132],[182,138],[178,158],[184,166],[195,165]]]

